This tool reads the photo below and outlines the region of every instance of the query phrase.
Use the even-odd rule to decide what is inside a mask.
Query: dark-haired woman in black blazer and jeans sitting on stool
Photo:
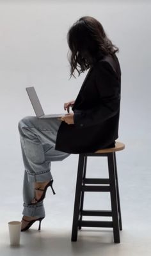
[[[68,31],[70,76],[88,71],[76,100],[65,103],[68,114],[58,119],[34,116],[19,122],[24,161],[22,231],[45,217],[43,200],[52,188],[51,161],[69,154],[114,147],[120,114],[120,64],[118,48],[107,38],[102,24],[82,17]],[[72,107],[73,113],[69,113]],[[54,190],[52,188],[52,192]]]

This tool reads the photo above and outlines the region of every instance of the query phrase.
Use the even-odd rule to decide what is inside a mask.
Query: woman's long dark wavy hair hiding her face
[[[67,42],[70,48],[70,77],[75,77],[90,68],[98,58],[113,56],[119,49],[112,44],[104,32],[102,24],[90,16],[81,17],[68,30]]]

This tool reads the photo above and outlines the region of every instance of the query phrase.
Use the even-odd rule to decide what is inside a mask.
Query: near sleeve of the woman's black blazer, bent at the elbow
[[[99,104],[88,110],[75,109],[76,127],[82,128],[106,122],[120,110],[120,80],[109,62],[102,61],[95,66],[94,86],[99,94]]]

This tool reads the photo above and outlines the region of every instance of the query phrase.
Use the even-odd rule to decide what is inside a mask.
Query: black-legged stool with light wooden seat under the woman
[[[113,228],[114,241],[120,242],[122,218],[120,211],[120,196],[118,190],[118,175],[116,168],[116,151],[122,151],[125,145],[116,142],[115,147],[101,149],[94,153],[79,154],[77,169],[76,195],[74,202],[74,217],[72,224],[72,241],[77,241],[77,229],[82,226]],[[86,161],[88,156],[106,156],[109,179],[86,178]],[[89,184],[89,185],[88,185]],[[97,184],[97,185],[96,185]],[[84,192],[110,192],[111,210],[83,210]],[[110,216],[112,221],[83,221],[83,216]]]

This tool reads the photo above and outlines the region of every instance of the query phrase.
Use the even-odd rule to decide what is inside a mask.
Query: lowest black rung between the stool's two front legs
[[[79,226],[90,226],[91,228],[113,228],[112,221],[79,221]]]

